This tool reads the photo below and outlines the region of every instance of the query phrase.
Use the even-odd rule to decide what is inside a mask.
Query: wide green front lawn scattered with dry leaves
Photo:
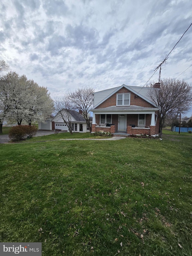
[[[0,150],[1,242],[42,242],[46,256],[192,255],[191,134]]]

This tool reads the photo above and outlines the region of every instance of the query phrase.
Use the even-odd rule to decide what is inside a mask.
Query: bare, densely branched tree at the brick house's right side
[[[164,78],[161,80],[160,89],[150,90],[150,97],[159,108],[159,136],[161,138],[166,115],[177,116],[190,109],[192,87],[184,80]]]

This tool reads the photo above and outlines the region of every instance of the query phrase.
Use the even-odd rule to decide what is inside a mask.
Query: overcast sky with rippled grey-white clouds
[[[86,85],[144,86],[191,23],[191,0],[1,0],[0,59],[52,98]],[[191,64],[192,26],[161,78]],[[192,67],[178,78],[192,84]]]

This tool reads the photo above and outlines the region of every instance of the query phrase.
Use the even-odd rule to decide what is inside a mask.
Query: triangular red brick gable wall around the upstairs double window
[[[130,105],[136,105],[140,107],[154,107],[152,104],[149,102],[143,100],[140,98],[138,95],[134,94],[133,92],[129,91],[125,87],[121,88],[118,92],[113,94],[110,98],[108,98],[106,101],[101,103],[97,108],[104,108],[104,107],[111,107],[111,106],[116,106],[116,98],[118,93],[131,93],[131,98],[130,98]]]

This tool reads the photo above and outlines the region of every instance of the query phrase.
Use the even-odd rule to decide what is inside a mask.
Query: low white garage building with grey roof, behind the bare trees
[[[75,110],[68,110],[69,119],[73,132],[89,132],[85,118],[82,116],[82,112]],[[69,122],[67,122],[69,124]],[[39,122],[39,130],[55,130],[60,129],[62,131],[69,131],[66,123],[64,123],[61,116],[57,113],[55,116],[51,116],[46,119],[45,123]]]

